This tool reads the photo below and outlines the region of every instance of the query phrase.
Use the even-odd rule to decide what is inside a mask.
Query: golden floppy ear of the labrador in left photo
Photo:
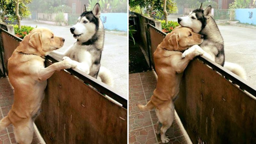
[[[29,36],[29,42],[28,44],[35,49],[37,49],[38,52],[43,51],[43,44],[41,40],[41,34],[40,33],[33,33]]]

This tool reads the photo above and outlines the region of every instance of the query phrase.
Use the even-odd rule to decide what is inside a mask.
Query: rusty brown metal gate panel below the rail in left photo
[[[63,70],[48,79],[35,123],[48,144],[127,143],[127,110]]]

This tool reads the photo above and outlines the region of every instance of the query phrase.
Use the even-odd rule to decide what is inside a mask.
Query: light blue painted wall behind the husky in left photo
[[[127,31],[127,13],[101,13],[100,19],[105,29]]]

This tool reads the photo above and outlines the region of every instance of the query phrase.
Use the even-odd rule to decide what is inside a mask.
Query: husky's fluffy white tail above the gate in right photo
[[[232,62],[225,62],[223,67],[227,68],[228,70],[230,70],[237,76],[240,76],[244,80],[247,80],[246,72],[245,72],[244,68],[241,67],[240,65],[238,65],[236,63],[232,63]]]

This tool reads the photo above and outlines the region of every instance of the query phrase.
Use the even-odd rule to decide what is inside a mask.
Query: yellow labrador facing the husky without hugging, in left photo
[[[35,28],[24,37],[8,60],[14,103],[8,116],[0,121],[0,130],[13,124],[15,139],[20,144],[32,142],[33,121],[40,111],[46,80],[55,71],[76,67],[69,58],[44,67],[44,56],[61,48],[64,41],[64,38],[54,36],[48,28]]]

